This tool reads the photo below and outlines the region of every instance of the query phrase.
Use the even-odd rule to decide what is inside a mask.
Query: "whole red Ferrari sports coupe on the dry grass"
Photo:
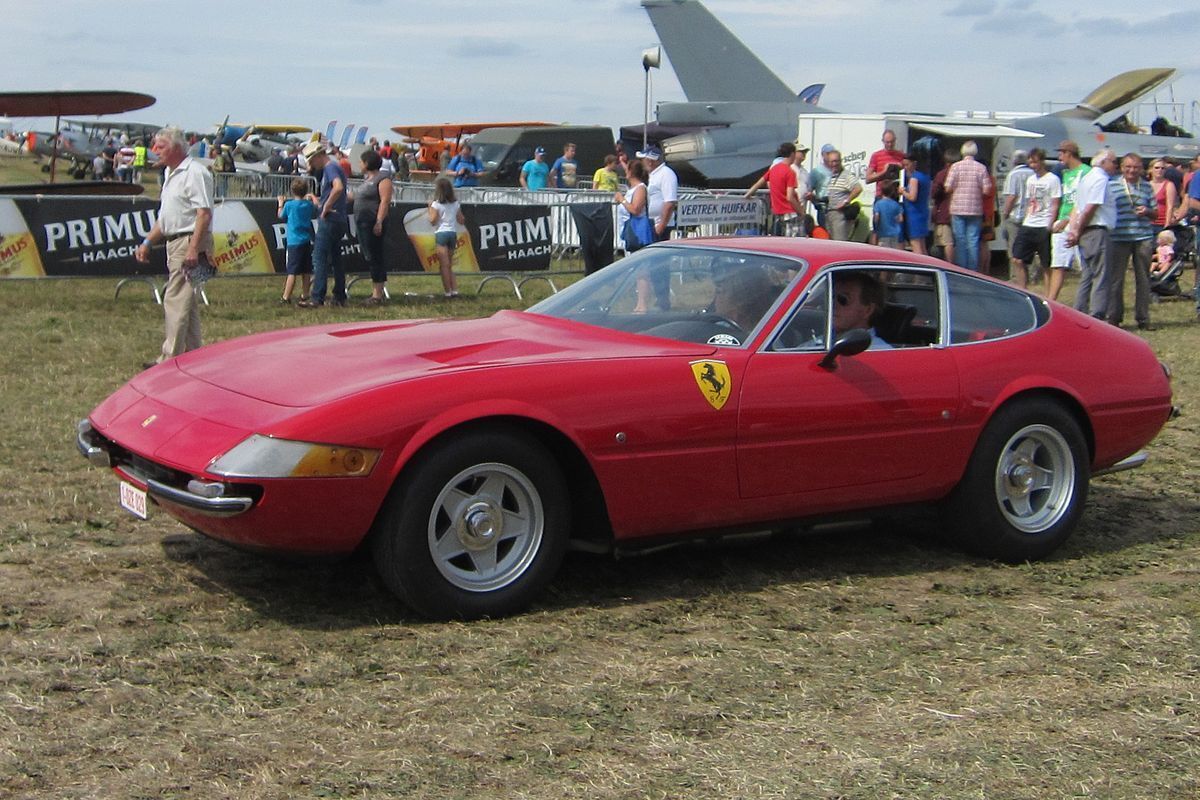
[[[776,237],[648,247],[526,312],[281,330],[139,374],[79,423],[208,536],[370,547],[430,616],[526,607],[628,547],[937,503],[1046,555],[1172,413],[1132,333],[942,261]]]

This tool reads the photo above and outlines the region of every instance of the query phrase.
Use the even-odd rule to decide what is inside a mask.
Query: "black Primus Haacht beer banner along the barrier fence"
[[[516,272],[550,269],[553,227],[545,205],[463,206],[454,255],[456,272]],[[158,203],[146,198],[0,198],[0,278],[163,275],[164,248],[149,264],[134,251],[150,233]],[[212,210],[212,261],[221,275],[282,273],[287,225],[274,199],[224,200]],[[390,272],[437,272],[428,210],[394,205],[384,233]],[[346,271],[365,272],[358,231],[342,241]]]

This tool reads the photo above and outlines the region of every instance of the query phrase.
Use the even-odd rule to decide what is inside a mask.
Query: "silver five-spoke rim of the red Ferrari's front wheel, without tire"
[[[438,493],[430,511],[430,555],[464,591],[494,591],[529,569],[541,547],[545,511],[536,487],[508,464],[475,464]]]

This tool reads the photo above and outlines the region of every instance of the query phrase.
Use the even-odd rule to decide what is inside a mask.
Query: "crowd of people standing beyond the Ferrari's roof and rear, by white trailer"
[[[1018,150],[997,187],[974,142],[946,152],[932,178],[917,154],[901,152],[895,143],[886,131],[859,180],[844,168],[834,145],[821,148],[809,172],[803,167],[808,145],[785,142],[746,197],[767,187],[773,235],[850,241],[866,234],[881,247],[929,252],[974,271],[988,271],[990,242],[1000,236],[1014,283],[1027,288],[1031,270],[1040,267],[1045,295],[1057,300],[1066,272],[1075,269],[1075,307],[1114,325],[1124,319],[1124,277],[1132,266],[1134,320],[1144,330],[1150,327],[1152,281],[1172,273],[1176,247],[1194,246],[1200,181],[1193,175],[1200,157],[1183,164],[1157,158],[1147,179],[1138,154],[1118,158],[1102,149],[1086,163],[1068,139],[1055,152],[1058,172],[1050,169],[1045,151]],[[875,200],[868,234],[859,198],[870,185]]]

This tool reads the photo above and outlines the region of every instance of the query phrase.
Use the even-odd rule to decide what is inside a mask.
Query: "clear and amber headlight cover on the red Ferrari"
[[[366,477],[378,450],[275,439],[256,433],[223,456],[209,471],[224,477]]]

